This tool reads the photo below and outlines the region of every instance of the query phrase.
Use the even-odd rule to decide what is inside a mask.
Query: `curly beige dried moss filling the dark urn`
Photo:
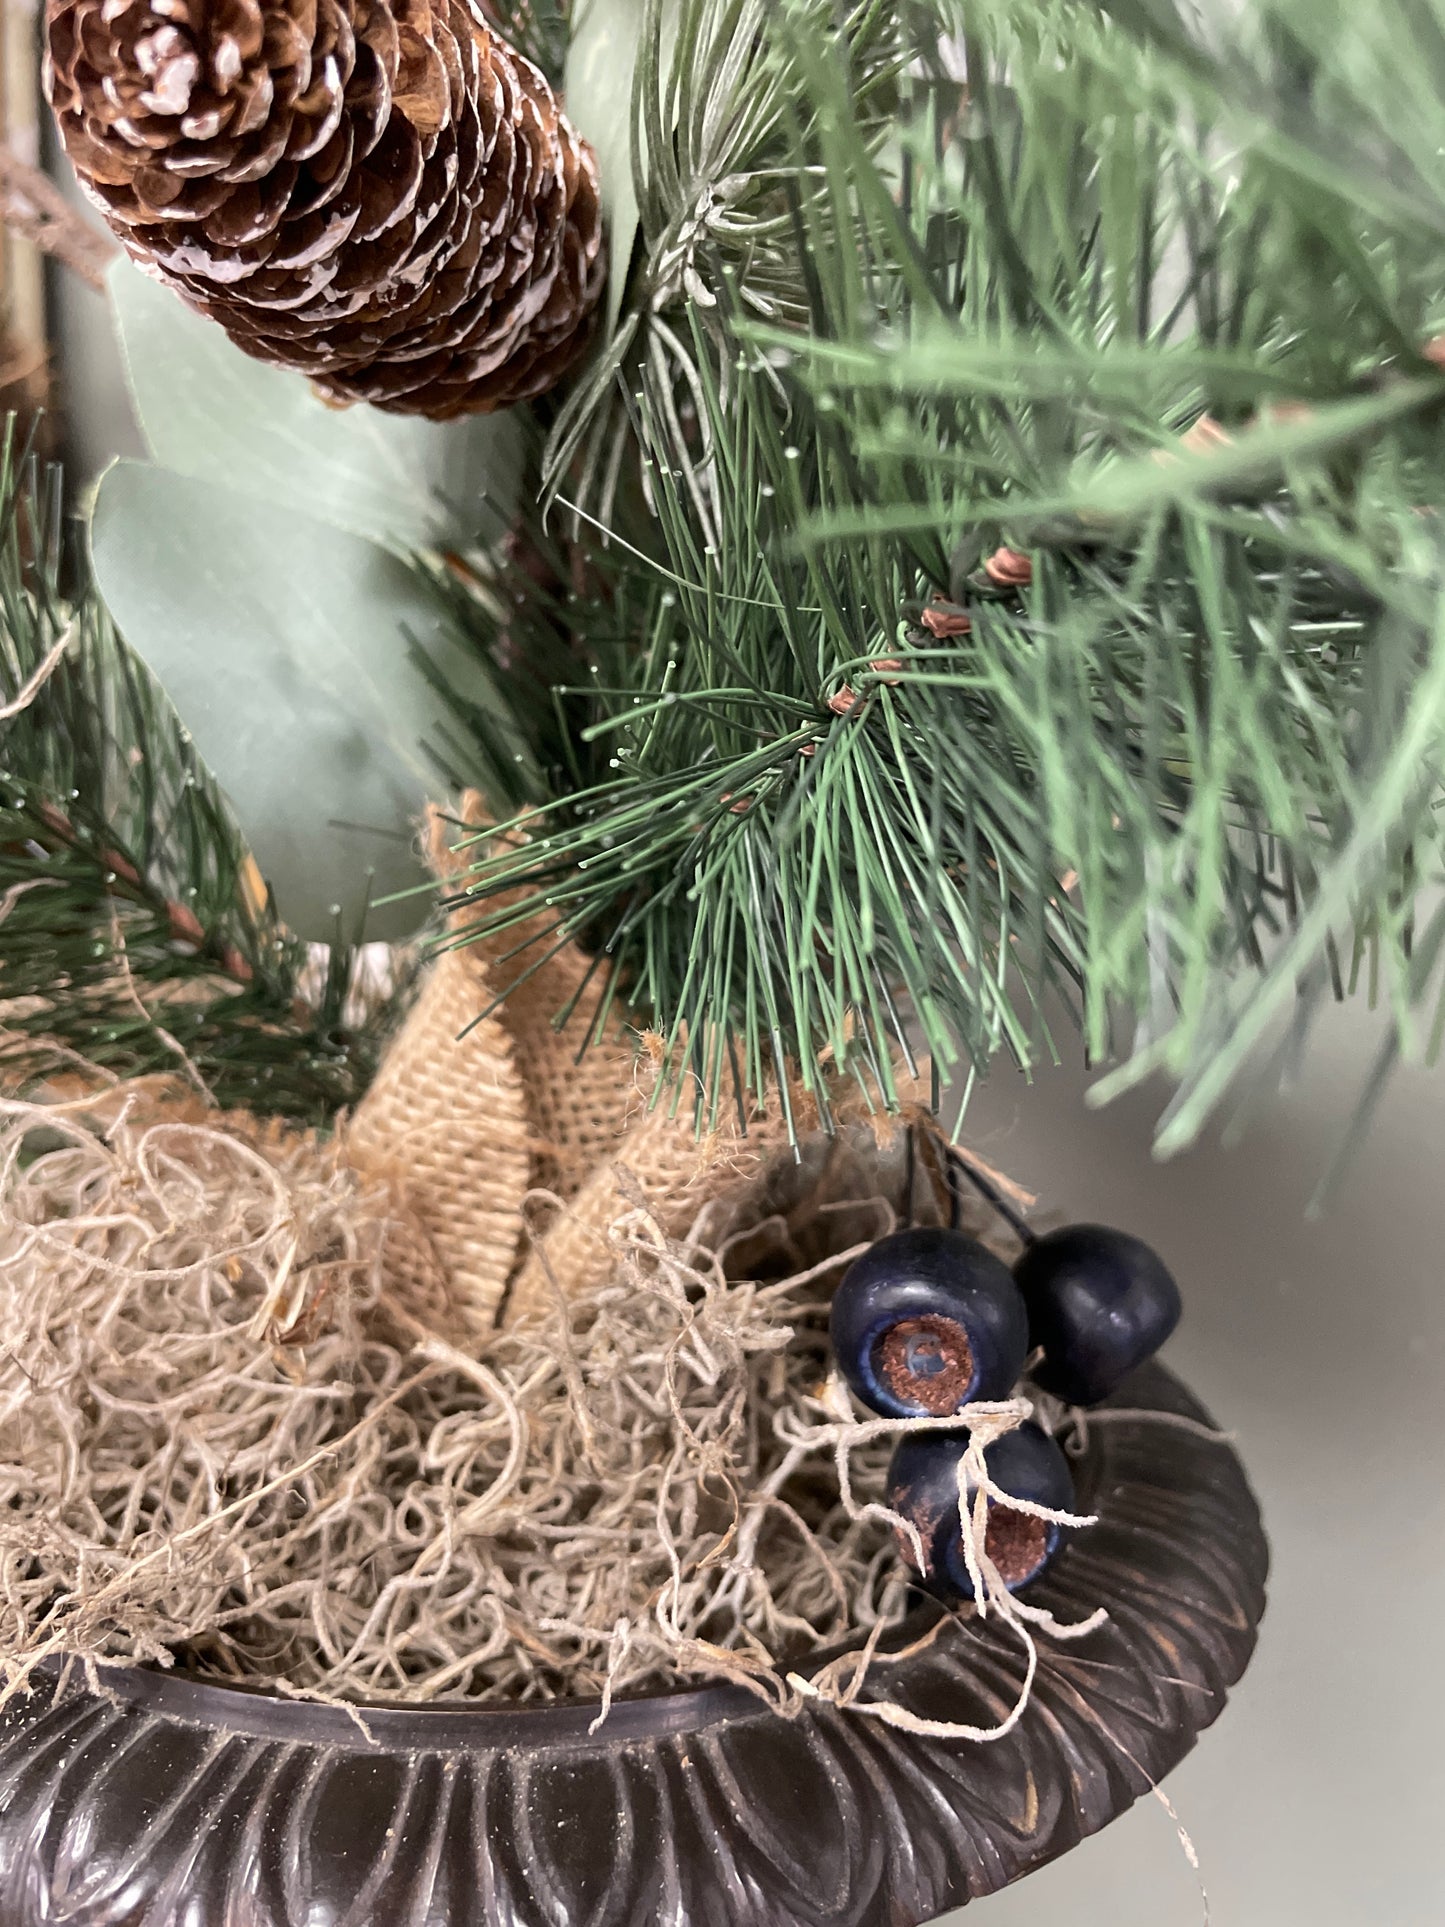
[[[179,1655],[335,1698],[788,1700],[792,1657],[898,1617],[821,1403],[830,1285],[892,1216],[836,1202],[857,1154],[821,1158],[794,1229],[709,1206],[682,1245],[622,1175],[605,1281],[472,1355],[389,1285],[385,1187],[154,1100],[0,1110],[12,1684]],[[798,1237],[832,1254],[798,1268]],[[771,1281],[728,1278],[744,1239]]]

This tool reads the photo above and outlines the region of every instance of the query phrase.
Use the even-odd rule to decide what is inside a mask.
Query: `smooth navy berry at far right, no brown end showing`
[[[1029,1307],[1035,1380],[1069,1405],[1096,1405],[1179,1324],[1179,1285],[1127,1231],[1069,1224],[1029,1245],[1013,1268]]]

